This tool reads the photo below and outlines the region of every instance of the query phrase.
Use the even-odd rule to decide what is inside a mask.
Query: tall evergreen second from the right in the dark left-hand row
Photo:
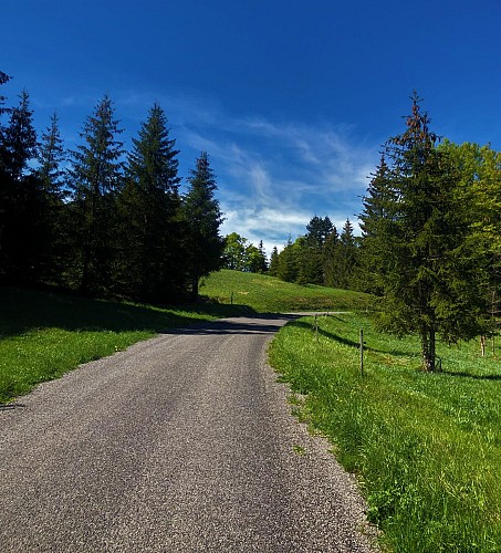
[[[129,296],[163,302],[182,288],[180,206],[176,140],[155,103],[133,138],[126,185],[119,197],[121,289]]]

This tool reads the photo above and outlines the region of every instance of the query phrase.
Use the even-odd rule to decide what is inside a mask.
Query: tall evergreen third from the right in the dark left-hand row
[[[71,153],[69,171],[74,221],[73,284],[82,292],[104,292],[112,285],[116,257],[115,198],[123,181],[123,143],[111,98],[105,95],[80,134],[83,144]]]

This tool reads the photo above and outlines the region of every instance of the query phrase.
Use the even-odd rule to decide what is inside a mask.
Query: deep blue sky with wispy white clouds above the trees
[[[127,147],[155,101],[180,175],[206,149],[223,233],[268,251],[356,223],[417,90],[432,129],[501,149],[500,0],[2,0],[0,70],[73,149],[108,93]]]

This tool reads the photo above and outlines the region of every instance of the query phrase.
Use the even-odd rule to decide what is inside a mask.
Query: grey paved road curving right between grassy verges
[[[288,320],[173,331],[1,409],[1,551],[368,552],[352,478],[265,363]]]

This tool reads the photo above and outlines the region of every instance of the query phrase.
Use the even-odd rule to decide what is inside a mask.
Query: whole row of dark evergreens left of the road
[[[9,77],[0,72],[0,84]],[[0,96],[0,281],[156,303],[198,294],[219,269],[222,213],[207,153],[181,195],[178,150],[154,104],[131,152],[107,95],[66,152],[54,114],[41,137],[28,92]]]

